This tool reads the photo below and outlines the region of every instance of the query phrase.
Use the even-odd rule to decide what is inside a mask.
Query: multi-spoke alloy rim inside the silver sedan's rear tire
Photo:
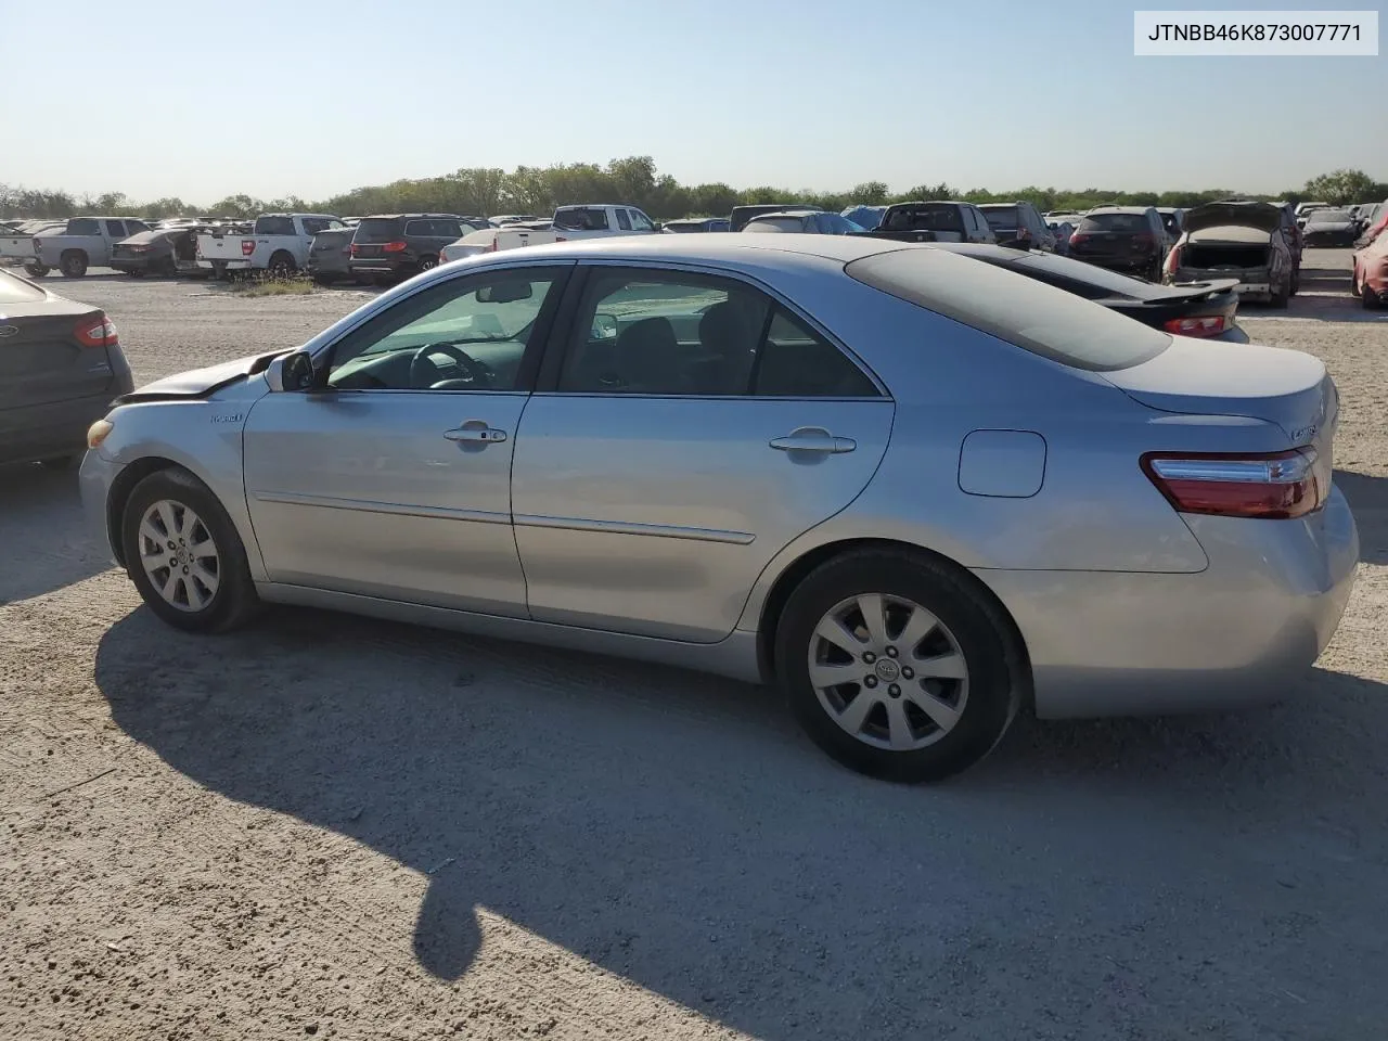
[[[809,682],[845,733],[911,752],[949,734],[969,700],[959,641],[905,597],[863,593],[840,601],[809,638]]]

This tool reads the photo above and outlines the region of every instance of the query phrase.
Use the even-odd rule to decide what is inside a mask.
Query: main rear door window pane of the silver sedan
[[[673,272],[595,272],[575,319],[559,390],[745,394],[770,301],[737,282]]]

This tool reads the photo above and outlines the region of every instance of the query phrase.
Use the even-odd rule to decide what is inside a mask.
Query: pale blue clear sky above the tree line
[[[1137,58],[1133,10],[0,0],[0,182],[314,198],[620,155],[686,183],[793,189],[1276,192],[1335,167],[1388,180],[1388,58]]]

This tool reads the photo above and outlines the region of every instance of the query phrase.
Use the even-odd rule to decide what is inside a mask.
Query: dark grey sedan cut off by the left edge
[[[101,308],[0,271],[0,464],[74,464],[87,428],[133,386]]]

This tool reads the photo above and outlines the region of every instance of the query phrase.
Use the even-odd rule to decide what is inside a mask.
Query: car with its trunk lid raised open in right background
[[[1287,307],[1301,265],[1283,214],[1270,203],[1208,203],[1185,214],[1185,230],[1166,257],[1167,285],[1238,279],[1244,300]]]

